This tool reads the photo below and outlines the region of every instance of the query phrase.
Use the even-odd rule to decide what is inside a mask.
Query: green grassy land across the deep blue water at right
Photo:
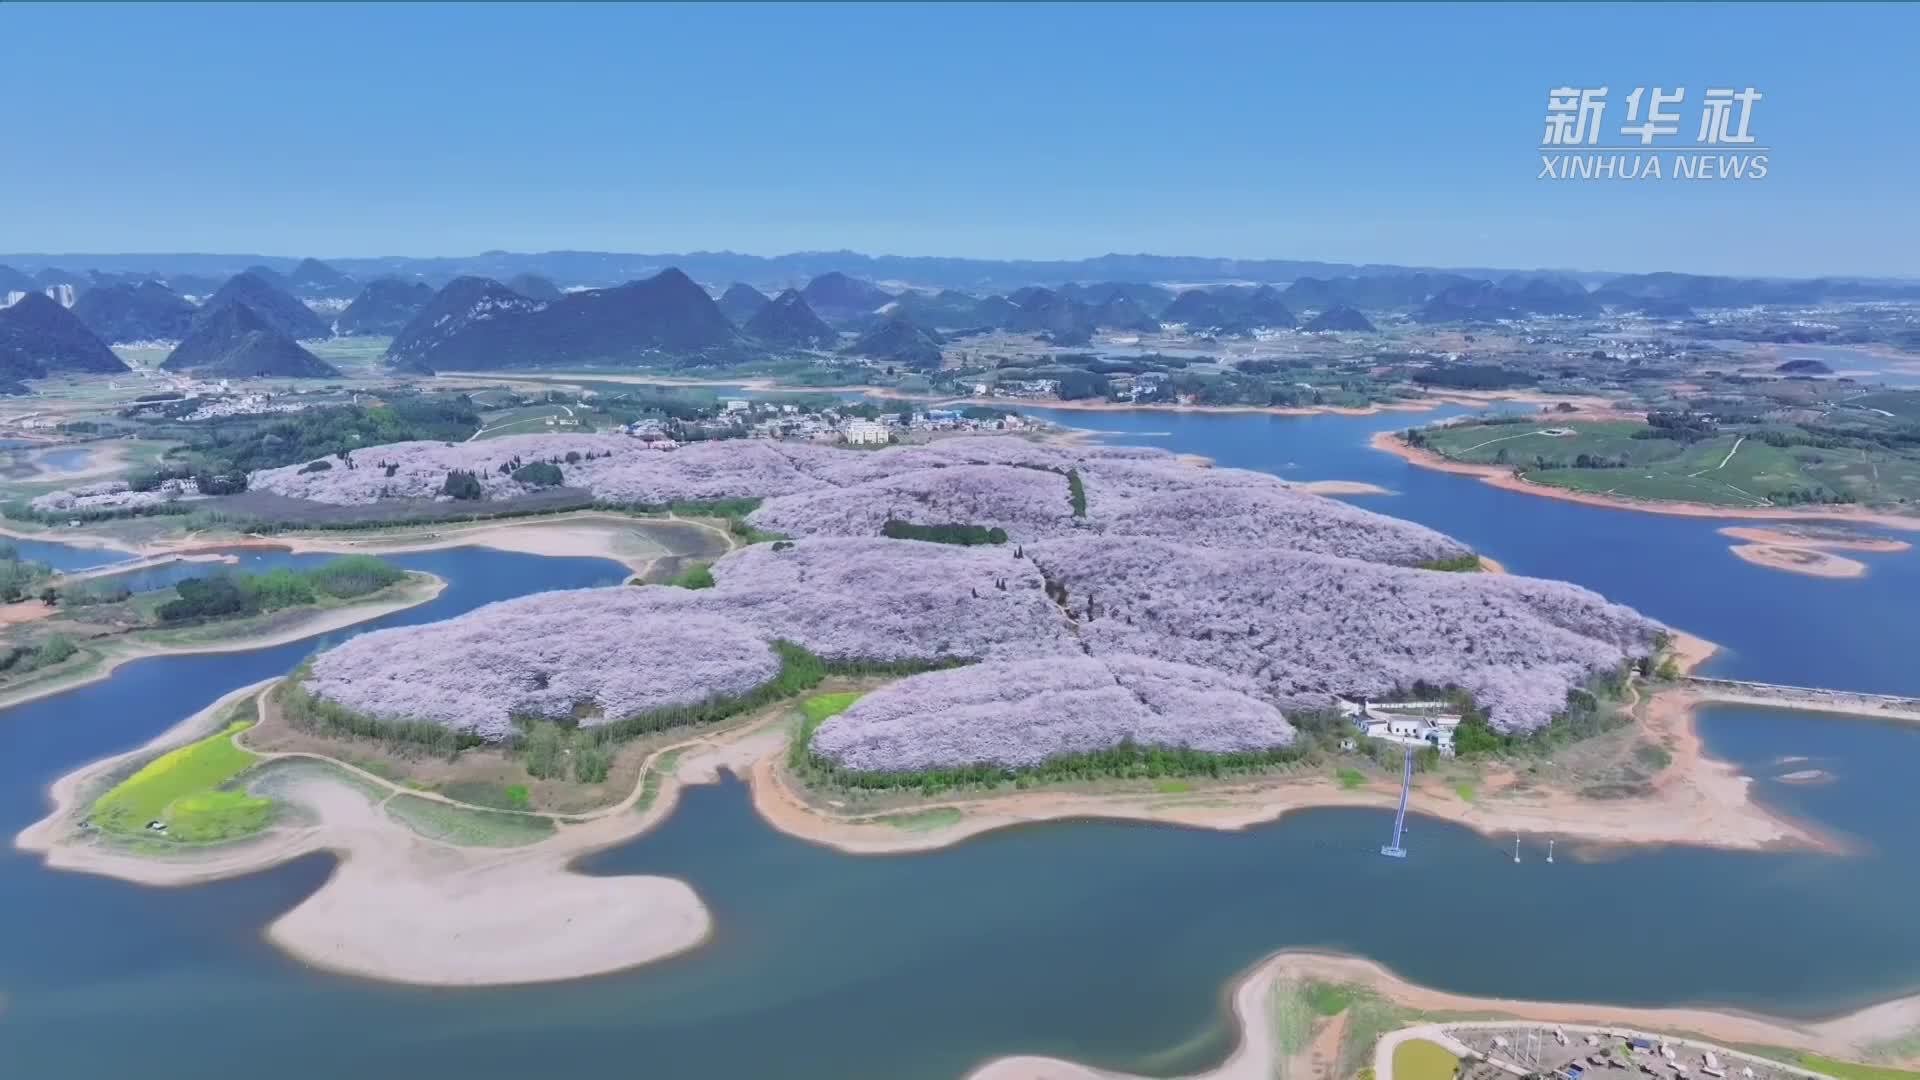
[[[1427,446],[1455,461],[1511,465],[1530,482],[1576,492],[1728,507],[1778,505],[1789,490],[1845,492],[1872,505],[1920,502],[1920,459],[1885,450],[1768,446],[1745,434],[1684,444],[1634,438],[1638,421],[1452,425]],[[1548,434],[1572,432],[1572,434]],[[1576,467],[1582,455],[1624,467]]]

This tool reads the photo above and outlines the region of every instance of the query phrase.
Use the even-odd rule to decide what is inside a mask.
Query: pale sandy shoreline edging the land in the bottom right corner
[[[1240,1043],[1217,1068],[1192,1080],[1271,1080],[1283,1065],[1277,1059],[1267,995],[1281,984],[1319,980],[1363,986],[1380,997],[1421,1013],[1505,1015],[1546,1024],[1609,1024],[1649,1032],[1705,1036],[1732,1045],[1784,1045],[1841,1059],[1866,1057],[1876,1042],[1908,1034],[1920,1024],[1920,995],[1901,997],[1834,1017],[1828,1020],[1788,1020],[1745,1011],[1644,1009],[1624,1005],[1580,1005],[1571,1001],[1526,1001],[1515,997],[1469,997],[1407,982],[1373,961],[1311,951],[1283,951],[1261,961],[1233,990],[1233,1019]],[[1002,1057],[975,1068],[968,1080],[1121,1080],[1127,1074],[1089,1068],[1050,1057]]]

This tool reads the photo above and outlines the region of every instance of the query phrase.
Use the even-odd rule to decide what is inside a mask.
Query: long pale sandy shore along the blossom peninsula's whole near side
[[[1678,642],[1680,661],[1688,669],[1711,651],[1713,646],[1697,638],[1682,636]],[[250,690],[255,688],[228,694],[134,753],[152,753],[204,734],[227,701]],[[1649,700],[1645,734],[1665,742],[1674,761],[1647,798],[1594,801],[1530,788],[1501,794],[1505,780],[1488,776],[1486,794],[1475,801],[1421,788],[1411,807],[1501,838],[1532,832],[1622,846],[1837,849],[1816,830],[1755,805],[1747,798],[1749,778],[1703,755],[1690,723],[1692,707],[1703,700],[1672,690]],[[851,853],[924,851],[993,828],[1087,817],[1246,828],[1302,807],[1390,807],[1398,794],[1384,780],[1346,790],[1331,778],[1250,782],[1169,796],[1039,790],[893,811],[960,811],[952,824],[900,828],[889,824],[885,815],[831,817],[793,792],[780,773],[787,744],[785,717],[785,705],[770,705],[737,728],[664,746],[655,751],[649,771],[666,751],[676,753],[676,765],[659,780],[645,813],[636,813],[645,790],[641,780],[618,805],[588,815],[557,815],[561,826],[551,838],[513,849],[459,847],[420,838],[380,809],[401,788],[326,759],[328,767],[351,774],[351,782],[348,776],[317,774],[292,780],[282,790],[284,798],[311,811],[313,824],[276,826],[253,842],[169,859],[75,844],[73,809],[86,784],[131,755],[90,765],[54,784],[54,813],[23,832],[19,844],[42,851],[60,869],[144,884],[225,878],[309,851],[334,851],[344,861],[326,886],[269,926],[267,934],[276,945],[332,970],[417,984],[480,986],[618,970],[703,942],[710,917],[685,884],[647,876],[589,878],[574,874],[570,865],[584,853],[622,844],[664,821],[685,784],[712,782],[720,771],[749,778],[755,807],[776,828]],[[449,801],[430,792],[409,792],[409,798]]]

